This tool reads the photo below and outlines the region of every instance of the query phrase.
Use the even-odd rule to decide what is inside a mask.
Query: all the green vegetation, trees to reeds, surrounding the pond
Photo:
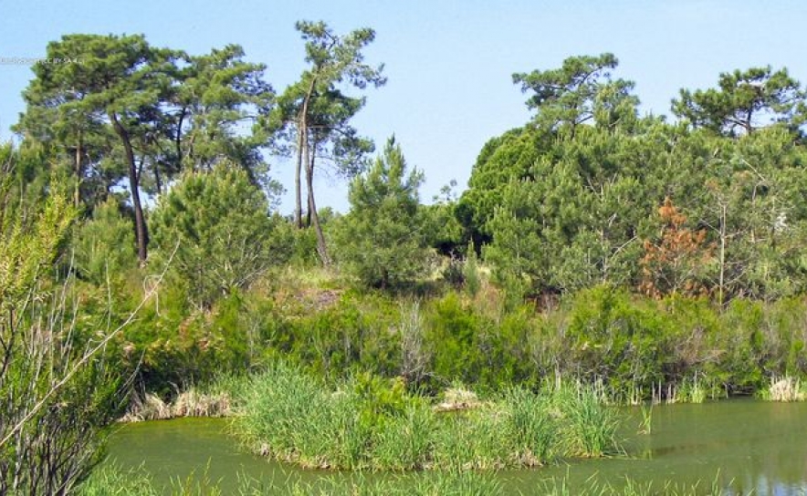
[[[63,36],[47,60],[77,62],[33,67],[0,146],[0,494],[151,491],[93,470],[121,417],[231,415],[271,459],[465,494],[619,453],[615,405],[805,398],[807,93],[786,69],[682,90],[676,122],[640,115],[612,54],[516,74],[533,118],[424,204],[403,144],[373,155],[352,124],[386,82],[374,31],[297,29],[282,92],[241,47],[136,35]],[[349,212],[317,208],[323,166]]]

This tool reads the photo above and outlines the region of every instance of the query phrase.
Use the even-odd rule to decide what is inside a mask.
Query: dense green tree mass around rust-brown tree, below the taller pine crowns
[[[807,219],[798,200],[805,156],[787,129],[728,139],[648,117],[573,134],[538,124],[533,142],[513,138],[527,135],[491,141],[457,207],[466,229],[489,242],[486,262],[511,294],[638,286],[647,247],[669,234],[657,213],[666,197],[686,218],[682,229],[697,233],[695,282],[720,304],[795,294],[807,281],[795,241]],[[653,271],[686,273],[677,261]]]

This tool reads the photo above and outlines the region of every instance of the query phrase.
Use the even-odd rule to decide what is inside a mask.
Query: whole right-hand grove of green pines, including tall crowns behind
[[[676,113],[689,128],[639,118],[633,84],[612,80],[615,67],[603,54],[514,76],[536,119],[488,141],[456,207],[466,234],[487,245],[494,281],[516,298],[635,287],[646,275],[637,270],[643,246],[663,228],[656,211],[670,198],[710,255],[699,263],[699,291],[719,305],[800,292],[799,83],[770,67],[723,74],[718,89],[682,92]],[[675,273],[676,260],[655,272]]]

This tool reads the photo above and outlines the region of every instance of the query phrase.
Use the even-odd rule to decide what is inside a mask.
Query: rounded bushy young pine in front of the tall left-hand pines
[[[219,164],[187,172],[160,198],[152,215],[153,241],[162,256],[173,252],[171,277],[189,302],[209,308],[287,258],[277,218],[246,171]]]

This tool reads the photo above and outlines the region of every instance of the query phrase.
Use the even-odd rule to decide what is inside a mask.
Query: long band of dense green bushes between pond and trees
[[[707,299],[654,300],[602,285],[536,313],[531,305],[487,301],[487,290],[474,299],[449,290],[402,302],[328,289],[334,283],[319,279],[294,289],[299,283],[280,279],[202,313],[189,312],[183,294],[166,288],[126,331],[121,346],[132,349],[125,363],[141,363],[143,386],[162,396],[278,358],[328,380],[370,372],[433,392],[457,382],[498,391],[578,378],[601,384],[617,402],[686,400],[693,390],[700,398],[751,394],[770,377],[807,377],[802,298],[737,299],[721,310]],[[103,296],[85,303],[103,315]]]

